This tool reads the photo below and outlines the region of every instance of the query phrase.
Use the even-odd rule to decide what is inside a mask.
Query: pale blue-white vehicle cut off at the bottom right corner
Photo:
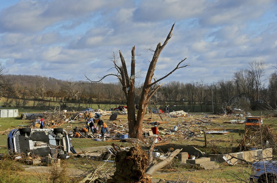
[[[277,161],[257,161],[252,164],[249,181],[274,183],[277,181]]]

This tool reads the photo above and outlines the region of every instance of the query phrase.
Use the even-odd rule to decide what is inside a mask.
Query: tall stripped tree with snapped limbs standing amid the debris
[[[175,70],[188,66],[187,64],[183,63],[186,60],[186,58],[185,58],[185,59],[181,60],[171,72],[169,72],[162,78],[156,79],[154,77],[155,67],[158,62],[159,56],[160,56],[163,48],[166,46],[167,42],[173,35],[172,31],[173,31],[174,25],[175,25],[175,23],[173,24],[173,26],[163,44],[160,42],[157,45],[155,51],[152,49],[147,49],[154,53],[153,53],[153,58],[149,64],[146,78],[145,78],[145,81],[143,84],[143,90],[142,90],[142,93],[140,96],[139,110],[138,110],[137,118],[135,116],[135,109],[134,109],[134,105],[135,105],[135,101],[134,101],[134,98],[135,98],[135,92],[134,92],[135,91],[134,90],[134,88],[135,88],[134,87],[135,86],[135,46],[132,48],[132,51],[131,51],[132,58],[131,58],[130,76],[128,75],[126,62],[125,62],[125,59],[120,50],[119,50],[119,57],[121,60],[121,66],[118,65],[117,59],[115,57],[113,60],[114,68],[116,69],[116,72],[103,76],[102,78],[100,78],[99,81],[90,80],[85,74],[85,77],[91,82],[100,82],[107,76],[111,76],[111,75],[116,76],[118,78],[118,80],[122,84],[122,90],[125,93],[125,96],[127,99],[128,125],[129,125],[130,138],[137,138],[137,139],[143,138],[142,137],[142,122],[143,122],[144,113],[145,113],[146,107],[147,107],[151,97],[163,85],[163,83],[160,84],[160,81],[162,81],[164,78],[167,78]]]

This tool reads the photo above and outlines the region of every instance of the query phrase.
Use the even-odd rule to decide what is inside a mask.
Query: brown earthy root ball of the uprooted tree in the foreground
[[[116,171],[109,183],[151,183],[151,178],[145,173],[148,165],[148,155],[139,145],[129,151],[120,151],[115,157]]]

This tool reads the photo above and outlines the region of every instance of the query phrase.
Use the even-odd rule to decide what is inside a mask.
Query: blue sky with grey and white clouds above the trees
[[[217,82],[261,60],[269,76],[277,63],[276,10],[275,0],[0,0],[0,62],[8,74],[97,80],[114,72],[118,50],[130,66],[135,46],[143,82],[149,49],[163,43],[175,23],[155,77],[184,58],[190,66],[163,82]]]

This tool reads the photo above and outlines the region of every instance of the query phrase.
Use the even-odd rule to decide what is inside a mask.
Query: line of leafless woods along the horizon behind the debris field
[[[266,62],[249,62],[246,69],[236,71],[232,78],[206,83],[203,78],[187,83],[169,81],[151,97],[150,103],[178,106],[190,112],[219,112],[227,106],[240,109],[276,109],[277,72],[265,75]],[[139,103],[143,83],[136,82],[135,102]],[[92,104],[126,104],[120,83],[59,80],[40,75],[8,74],[0,63],[0,105],[3,107],[36,108],[58,102],[66,107],[72,103],[77,109]]]

